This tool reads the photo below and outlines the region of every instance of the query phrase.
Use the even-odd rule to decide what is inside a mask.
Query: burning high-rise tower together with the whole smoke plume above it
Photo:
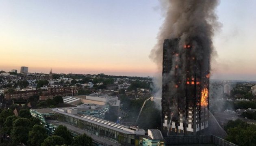
[[[215,14],[219,0],[166,0],[161,4],[165,20],[150,58],[162,70],[154,89],[155,97],[162,93],[163,135],[207,133],[210,59],[215,52],[215,28],[220,26]]]

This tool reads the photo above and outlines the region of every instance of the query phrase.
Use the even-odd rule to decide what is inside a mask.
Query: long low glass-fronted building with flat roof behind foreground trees
[[[139,144],[139,137],[145,135],[143,129],[127,127],[100,118],[78,114],[69,114],[65,110],[54,109],[30,109],[33,117],[41,120],[41,123],[50,133],[54,133],[56,127],[65,125],[72,135],[89,135],[94,144],[130,146]]]

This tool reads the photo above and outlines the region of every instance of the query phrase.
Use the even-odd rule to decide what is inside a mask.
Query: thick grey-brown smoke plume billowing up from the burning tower
[[[195,58],[202,63],[202,66],[208,66],[202,68],[210,69],[209,60],[215,52],[212,39],[214,31],[220,26],[215,14],[219,0],[161,0],[161,4],[165,12],[165,20],[158,33],[157,44],[150,53],[150,58],[157,64],[159,72],[162,71],[165,39],[179,39],[178,49],[181,56],[183,45],[189,43],[193,46],[192,51]],[[172,67],[176,65],[179,64],[172,64]],[[180,72],[184,72],[182,69],[184,67],[181,66]],[[167,76],[174,77],[173,72],[170,71]],[[154,86],[158,87],[158,90],[155,91],[156,98],[161,98],[162,75],[159,74],[154,81]]]

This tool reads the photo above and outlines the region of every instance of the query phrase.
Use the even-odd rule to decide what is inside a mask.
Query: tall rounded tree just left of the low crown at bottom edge
[[[40,144],[48,137],[46,129],[39,125],[34,125],[28,133],[28,145],[40,146]]]

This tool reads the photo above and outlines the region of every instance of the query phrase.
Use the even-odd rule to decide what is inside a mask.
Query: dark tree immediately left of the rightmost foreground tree
[[[54,131],[53,135],[61,136],[65,140],[65,144],[72,143],[72,135],[71,132],[67,130],[67,127],[63,125],[59,125],[56,130]]]

